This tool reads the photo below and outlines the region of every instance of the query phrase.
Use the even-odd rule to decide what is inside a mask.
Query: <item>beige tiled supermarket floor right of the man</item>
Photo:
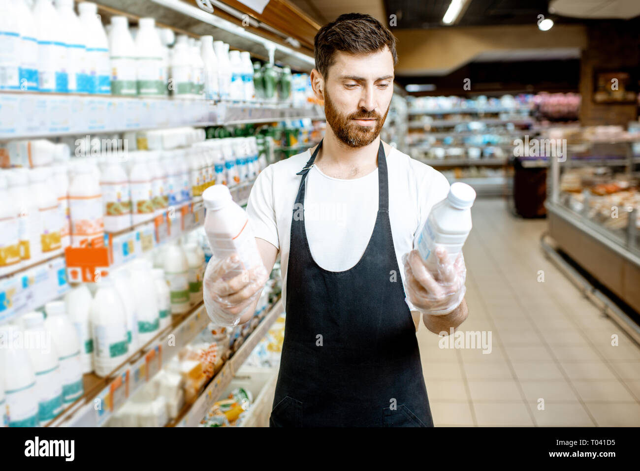
[[[492,348],[440,348],[420,325],[435,425],[640,426],[640,348],[545,259],[547,221],[515,218],[499,199],[472,214],[458,330],[490,332]]]

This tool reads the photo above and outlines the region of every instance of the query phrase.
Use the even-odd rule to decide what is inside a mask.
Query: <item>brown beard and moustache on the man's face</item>
[[[351,115],[341,115],[335,106],[333,106],[332,100],[329,98],[329,94],[324,92],[324,116],[326,116],[326,122],[331,127],[333,134],[349,147],[364,147],[371,144],[380,134],[387,119],[387,113],[384,116],[376,113],[376,111],[356,111]],[[376,119],[375,127],[361,126],[352,120],[355,119]]]

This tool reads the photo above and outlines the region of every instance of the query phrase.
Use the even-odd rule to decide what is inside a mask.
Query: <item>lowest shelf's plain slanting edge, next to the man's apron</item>
[[[213,404],[220,399],[220,395],[227,388],[234,374],[240,369],[244,360],[246,360],[260,339],[266,335],[271,325],[280,317],[282,312],[284,312],[284,305],[281,298],[271,307],[269,314],[262,319],[257,328],[244,340],[241,347],[225,363],[218,374],[211,379],[211,382],[205,387],[202,394],[198,396],[195,403],[186,406],[178,417],[169,424],[170,427],[197,427],[200,424],[200,420],[211,409]]]

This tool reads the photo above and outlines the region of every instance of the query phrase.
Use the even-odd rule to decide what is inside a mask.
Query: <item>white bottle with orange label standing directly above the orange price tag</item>
[[[104,246],[104,216],[99,180],[92,168],[81,162],[69,185],[71,243],[74,247]]]

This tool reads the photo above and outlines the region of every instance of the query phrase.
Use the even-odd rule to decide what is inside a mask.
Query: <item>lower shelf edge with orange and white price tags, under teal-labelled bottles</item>
[[[107,378],[97,379],[95,374],[84,375],[85,384],[93,382],[97,383],[97,387],[85,392],[83,397],[47,426],[103,426],[129,397],[154,377],[163,363],[177,355],[182,347],[207,326],[207,323],[209,317],[204,304],[200,303],[178,321],[174,320],[171,328],[161,331],[146,347],[129,356],[127,362]]]

